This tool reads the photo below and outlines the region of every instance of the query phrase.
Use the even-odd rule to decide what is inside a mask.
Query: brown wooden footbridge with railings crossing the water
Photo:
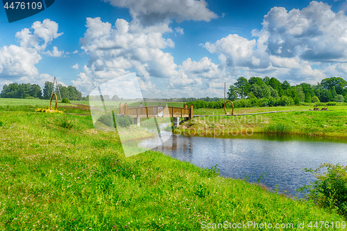
[[[160,118],[160,117],[172,117],[173,126],[177,128],[180,125],[180,118],[185,120],[193,118],[193,105],[185,104],[184,108],[166,107],[166,106],[142,106],[128,108],[128,104],[122,105],[119,103],[119,114],[125,114],[134,118],[135,124],[139,126],[141,118]]]

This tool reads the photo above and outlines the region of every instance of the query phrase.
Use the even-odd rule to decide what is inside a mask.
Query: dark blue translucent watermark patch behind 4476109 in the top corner
[[[55,0],[3,0],[8,22],[16,22],[49,8]]]

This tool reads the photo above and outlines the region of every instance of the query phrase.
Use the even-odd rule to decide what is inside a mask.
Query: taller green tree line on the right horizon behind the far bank
[[[283,83],[277,78],[251,77],[249,80],[243,76],[237,78],[234,85],[230,85],[228,99],[276,99],[287,96],[298,105],[301,102],[347,102],[347,82],[344,78],[324,78],[321,83],[312,85],[301,83],[291,86],[287,80]]]

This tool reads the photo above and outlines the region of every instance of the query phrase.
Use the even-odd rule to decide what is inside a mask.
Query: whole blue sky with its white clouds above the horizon
[[[222,97],[239,76],[345,78],[345,10],[345,0],[56,0],[8,23],[3,9],[0,89],[56,76],[85,96],[135,72],[146,97]]]

